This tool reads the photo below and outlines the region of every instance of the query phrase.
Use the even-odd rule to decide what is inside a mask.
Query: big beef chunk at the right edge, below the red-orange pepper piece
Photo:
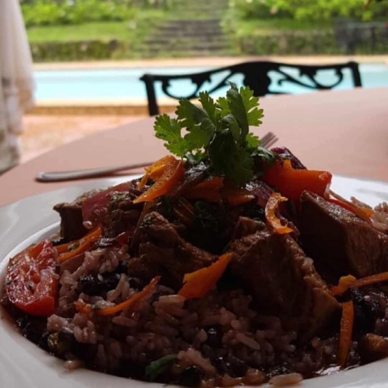
[[[388,236],[350,211],[311,192],[301,195],[303,248],[331,282],[342,275],[365,277],[388,269]]]

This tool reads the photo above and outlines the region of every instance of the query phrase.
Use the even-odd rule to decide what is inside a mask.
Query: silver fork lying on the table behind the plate
[[[268,132],[260,139],[260,146],[269,148],[271,145],[277,142],[277,140],[278,138],[274,133]],[[135,168],[146,167],[152,165],[152,163],[154,162],[144,162],[114,167],[88,168],[86,170],[46,171],[36,174],[35,180],[38,182],[61,182],[64,180],[72,179],[103,177],[119,171],[134,170]]]

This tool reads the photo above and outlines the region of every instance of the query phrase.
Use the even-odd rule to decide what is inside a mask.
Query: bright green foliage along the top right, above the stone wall
[[[330,20],[350,17],[363,21],[388,16],[388,2],[365,0],[235,0],[232,6],[243,18],[294,17],[297,20]]]

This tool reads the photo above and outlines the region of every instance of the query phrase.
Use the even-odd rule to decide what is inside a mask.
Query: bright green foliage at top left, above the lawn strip
[[[24,23],[30,27],[133,19],[136,9],[131,3],[130,0],[36,0],[23,3],[21,8]]]

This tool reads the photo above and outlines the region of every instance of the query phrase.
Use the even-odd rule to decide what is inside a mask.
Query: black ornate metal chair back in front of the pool
[[[307,76],[310,82],[304,82],[298,80],[286,73],[282,68],[294,68],[299,70],[300,76]],[[331,85],[322,85],[317,81],[317,71],[319,70],[334,70],[338,79],[334,81]],[[344,78],[343,70],[350,69],[352,73],[353,85],[355,87],[360,87],[361,77],[359,72],[359,65],[357,62],[347,62],[343,64],[330,64],[330,65],[299,65],[299,64],[288,64],[288,63],[279,63],[279,62],[268,62],[268,61],[258,61],[258,62],[243,62],[232,66],[226,66],[223,68],[217,68],[209,71],[203,71],[201,73],[190,73],[190,74],[174,74],[174,75],[158,75],[158,74],[144,74],[140,80],[144,81],[145,87],[147,90],[148,98],[148,110],[150,116],[159,114],[159,107],[156,101],[155,94],[155,82],[162,83],[163,92],[173,99],[196,99],[201,90],[203,90],[203,85],[205,82],[211,82],[211,76],[213,74],[221,73],[223,71],[229,71],[229,74],[225,75],[222,80],[211,87],[208,92],[211,94],[216,90],[228,86],[230,78],[235,74],[242,74],[244,76],[243,83],[248,85],[254,92],[255,96],[263,96],[266,94],[284,94],[283,92],[275,92],[269,89],[271,84],[271,79],[268,76],[270,71],[275,71],[280,75],[280,79],[277,81],[278,85],[282,85],[285,81],[291,82],[293,84],[314,89],[314,90],[327,90],[332,89],[338,86]],[[169,92],[170,81],[172,80],[183,80],[189,79],[193,84],[196,85],[196,90],[191,94],[187,95],[175,95]]]

